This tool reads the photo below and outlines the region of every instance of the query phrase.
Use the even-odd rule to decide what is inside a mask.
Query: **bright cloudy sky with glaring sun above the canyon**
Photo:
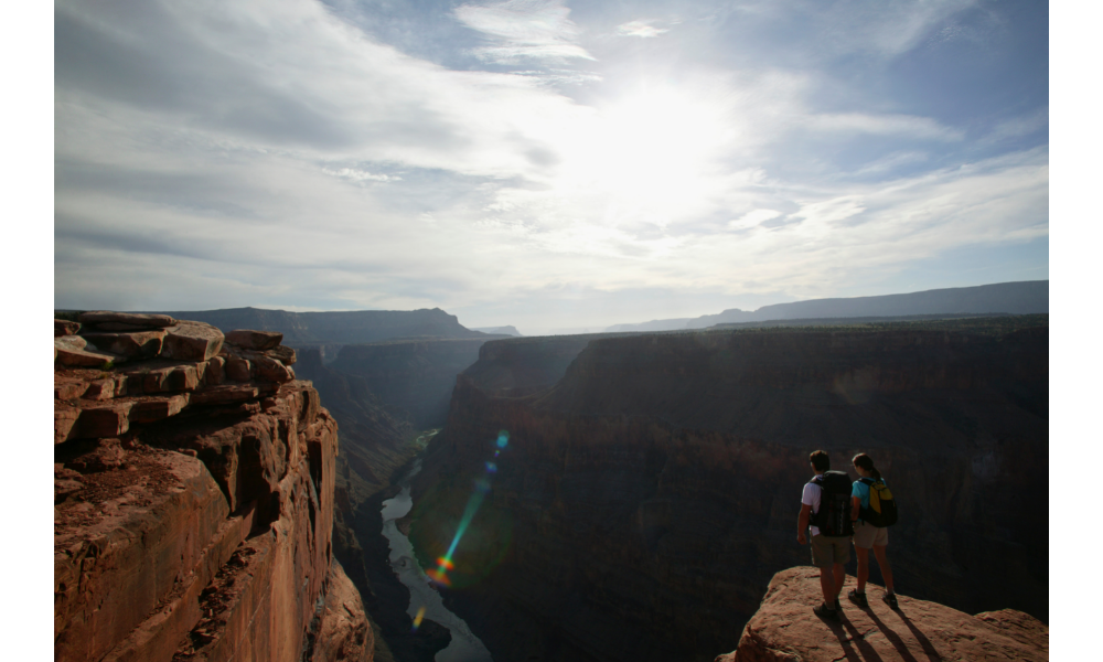
[[[1046,279],[1048,12],[57,0],[54,306],[534,334]]]

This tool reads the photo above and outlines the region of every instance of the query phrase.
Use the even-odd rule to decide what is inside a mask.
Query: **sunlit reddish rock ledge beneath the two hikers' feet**
[[[854,586],[846,578],[846,587]],[[881,587],[867,585],[876,597]],[[773,576],[739,648],[716,662],[833,662],[835,660],[1049,660],[1049,628],[1011,609],[970,616],[938,602],[899,597],[899,609],[879,599],[859,608],[844,601],[838,621],[821,619],[820,570],[796,567]]]

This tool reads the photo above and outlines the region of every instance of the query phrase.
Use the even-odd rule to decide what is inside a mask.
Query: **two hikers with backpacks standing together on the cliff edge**
[[[826,452],[817,450],[808,456],[808,460],[816,476],[804,485],[796,541],[802,545],[807,543],[804,532],[811,523],[812,565],[820,568],[820,587],[824,594],[823,605],[813,611],[822,618],[838,620],[843,610],[838,596],[846,580],[844,566],[850,560],[852,535],[858,555],[858,587],[852,589],[847,598],[859,607],[868,607],[865,588],[869,578],[869,549],[872,548],[885,578],[886,594],[882,599],[896,609],[892,568],[885,552],[889,544],[888,528],[863,520],[863,515],[868,517],[870,512],[870,488],[885,483],[880,471],[874,467],[869,456],[859,452],[854,456],[853,462],[861,478],[847,485],[844,483],[849,483],[849,477],[842,471],[831,471],[831,458]]]

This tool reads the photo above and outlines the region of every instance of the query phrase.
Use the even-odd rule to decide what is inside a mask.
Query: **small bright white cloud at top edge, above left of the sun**
[[[482,60],[515,64],[524,60],[566,62],[593,60],[576,41],[579,29],[561,0],[508,0],[495,4],[461,4],[456,18],[501,45],[474,50]]]

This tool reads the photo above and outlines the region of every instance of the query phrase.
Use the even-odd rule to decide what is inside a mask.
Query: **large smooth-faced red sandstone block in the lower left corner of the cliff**
[[[101,659],[196,565],[228,514],[225,498],[201,461],[175,452],[141,459],[141,471],[86,476],[87,501],[57,506],[58,662]]]

